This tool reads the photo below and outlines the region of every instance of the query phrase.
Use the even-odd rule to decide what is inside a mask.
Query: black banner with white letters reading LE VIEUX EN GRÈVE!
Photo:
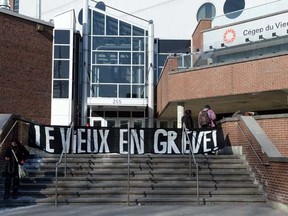
[[[188,136],[182,129],[93,128],[30,124],[29,146],[51,154],[119,153],[194,154],[224,147],[221,129],[194,129]],[[129,137],[128,137],[129,136]],[[129,139],[128,139],[129,138]]]

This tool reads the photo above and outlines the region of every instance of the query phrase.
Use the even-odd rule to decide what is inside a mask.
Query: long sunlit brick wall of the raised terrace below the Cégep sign
[[[168,81],[161,83],[161,88],[168,92],[162,103],[287,89],[287,67],[287,55],[281,55],[177,72],[164,68]],[[159,86],[157,91],[163,92]],[[158,111],[161,113],[163,109],[158,108]]]

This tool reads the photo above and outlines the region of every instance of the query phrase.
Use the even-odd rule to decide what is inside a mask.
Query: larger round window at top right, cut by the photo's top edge
[[[227,18],[235,19],[241,15],[245,8],[245,0],[226,0],[223,11]]]

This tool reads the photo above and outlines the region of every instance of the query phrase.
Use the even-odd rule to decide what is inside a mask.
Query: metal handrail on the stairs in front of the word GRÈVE
[[[191,159],[191,155],[193,157],[193,163],[195,164],[196,167],[196,190],[197,190],[197,202],[198,205],[200,205],[200,199],[199,199],[199,165],[195,159],[195,155],[194,155],[194,146],[192,145],[191,139],[189,137],[188,134],[188,129],[186,128],[186,125],[183,123],[183,133],[185,133],[185,137],[183,137],[183,139],[185,139],[185,142],[183,140],[183,145],[184,143],[186,143],[187,139],[189,140],[189,175],[192,176],[192,159]],[[184,149],[184,148],[183,148]]]

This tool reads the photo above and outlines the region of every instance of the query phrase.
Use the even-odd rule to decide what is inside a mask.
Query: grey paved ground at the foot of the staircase
[[[214,205],[214,206],[121,206],[121,205],[35,205],[1,209],[1,216],[284,216],[288,212],[264,205]]]

